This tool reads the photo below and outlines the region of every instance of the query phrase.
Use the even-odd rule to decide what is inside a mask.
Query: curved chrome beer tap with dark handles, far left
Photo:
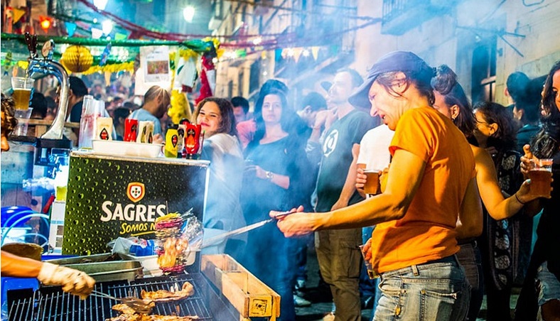
[[[26,33],[25,39],[29,50],[29,65],[26,70],[28,77],[33,78],[33,75],[36,74],[54,75],[58,79],[58,82],[60,82],[60,98],[58,99],[58,109],[55,120],[50,126],[50,129],[48,129],[41,138],[61,139],[63,138],[64,121],[68,110],[68,92],[70,89],[68,73],[63,65],[53,61],[53,51],[55,49],[53,40],[48,40],[43,44],[43,48],[41,49],[43,58],[38,58],[37,36]]]

